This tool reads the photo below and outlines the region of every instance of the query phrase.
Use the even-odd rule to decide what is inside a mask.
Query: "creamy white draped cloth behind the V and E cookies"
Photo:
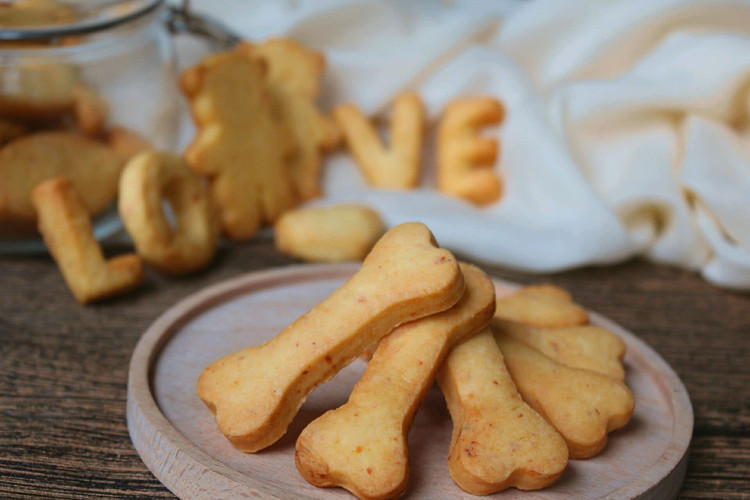
[[[431,124],[460,95],[508,110],[505,193],[478,208],[423,185],[368,188],[351,156],[322,203],[425,222],[459,255],[549,272],[642,255],[750,290],[750,1],[194,2],[251,39],[322,50],[324,104],[370,114],[418,89]]]

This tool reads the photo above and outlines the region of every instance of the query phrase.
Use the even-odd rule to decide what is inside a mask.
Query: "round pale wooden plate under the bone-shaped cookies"
[[[128,428],[154,475],[183,498],[352,498],[340,488],[316,488],[294,465],[294,443],[304,426],[348,399],[365,370],[356,360],[320,386],[287,434],[255,453],[235,450],[198,398],[195,385],[216,359],[259,344],[284,329],[341,286],[358,265],[297,266],[252,273],[212,286],[166,311],[133,353],[128,382]],[[498,295],[517,287],[495,280]],[[610,435],[605,450],[571,460],[551,487],[497,493],[504,498],[674,498],[687,466],[693,412],[674,371],[645,343],[592,313],[592,322],[627,344],[627,384],[636,409]],[[409,434],[411,481],[407,498],[474,498],[446,467],[452,424],[433,387]]]

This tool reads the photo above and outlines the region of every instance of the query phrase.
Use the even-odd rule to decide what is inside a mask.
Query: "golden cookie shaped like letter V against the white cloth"
[[[390,149],[383,145],[375,127],[355,105],[337,106],[333,117],[371,185],[413,188],[419,182],[424,107],[414,92],[400,95],[393,106]]]

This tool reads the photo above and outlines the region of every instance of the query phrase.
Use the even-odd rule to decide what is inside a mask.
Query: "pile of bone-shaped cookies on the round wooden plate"
[[[401,496],[409,429],[437,380],[454,424],[455,482],[477,495],[539,489],[569,458],[599,453],[634,410],[623,342],[588,321],[553,286],[496,299],[481,269],[439,248],[424,225],[407,223],[276,337],[208,366],[197,391],[229,441],[253,453],[284,435],[318,385],[374,351],[348,402],[298,436],[305,479],[359,498]]]

